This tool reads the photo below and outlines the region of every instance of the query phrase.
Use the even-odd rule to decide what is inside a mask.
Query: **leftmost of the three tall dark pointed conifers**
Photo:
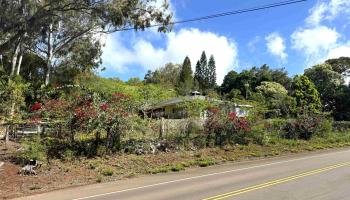
[[[180,71],[179,82],[177,84],[177,91],[180,95],[188,94],[193,88],[191,61],[186,56]]]

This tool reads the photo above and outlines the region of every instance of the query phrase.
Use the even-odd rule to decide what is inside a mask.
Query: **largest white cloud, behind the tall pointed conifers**
[[[156,34],[156,33],[154,33]],[[136,38],[130,47],[122,42],[120,34],[109,35],[103,48],[103,66],[125,72],[129,67],[142,66],[144,70],[154,70],[168,62],[182,63],[189,56],[192,68],[203,50],[216,60],[217,82],[221,84],[225,74],[237,64],[237,45],[225,37],[198,29],[181,29],[165,35],[165,47],[157,47],[143,38]]]

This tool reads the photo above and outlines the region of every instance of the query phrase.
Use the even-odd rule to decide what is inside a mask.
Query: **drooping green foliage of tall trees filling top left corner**
[[[41,71],[45,84],[48,85],[53,74],[66,83],[77,72],[91,70],[99,64],[101,45],[94,38],[96,31],[114,32],[129,26],[144,30],[152,22],[162,24],[158,30],[166,32],[172,19],[168,6],[167,2],[154,6],[153,0],[128,3],[122,0],[98,3],[4,0],[0,14],[3,21],[0,49],[2,54],[16,52],[11,55],[13,58],[23,53],[15,49],[35,52],[46,61],[45,70]]]

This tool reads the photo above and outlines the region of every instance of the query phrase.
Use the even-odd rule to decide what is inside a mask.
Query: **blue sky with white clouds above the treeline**
[[[158,1],[158,0],[157,0]],[[157,2],[161,4],[162,0]],[[168,0],[169,1],[169,0]],[[174,21],[252,8],[283,0],[170,0]],[[238,15],[178,24],[170,33],[124,31],[104,39],[103,77],[143,79],[148,70],[202,51],[216,61],[217,83],[227,72],[268,64],[301,74],[329,58],[350,57],[350,0],[308,0]]]

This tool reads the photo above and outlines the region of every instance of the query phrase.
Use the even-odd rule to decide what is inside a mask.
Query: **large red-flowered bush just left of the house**
[[[108,98],[94,94],[82,99],[74,109],[74,121],[77,127],[96,132],[98,142],[100,132],[106,132],[106,147],[111,151],[120,148],[121,135],[128,130],[129,97],[116,93]]]

